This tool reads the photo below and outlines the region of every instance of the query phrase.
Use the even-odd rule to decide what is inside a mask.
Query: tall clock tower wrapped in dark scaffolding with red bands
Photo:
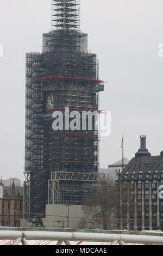
[[[102,83],[97,56],[80,32],[80,1],[52,0],[52,31],[43,34],[43,51],[26,54],[26,211],[45,214],[51,172],[97,173],[94,123],[92,130],[54,131],[52,116],[60,111],[65,122],[65,107],[74,115],[97,111]]]

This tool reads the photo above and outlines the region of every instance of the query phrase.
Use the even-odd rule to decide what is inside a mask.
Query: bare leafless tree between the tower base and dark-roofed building
[[[94,196],[87,198],[86,205],[83,205],[87,220],[83,218],[80,221],[80,228],[116,228],[117,202],[117,184],[114,181],[110,180],[98,185]]]

